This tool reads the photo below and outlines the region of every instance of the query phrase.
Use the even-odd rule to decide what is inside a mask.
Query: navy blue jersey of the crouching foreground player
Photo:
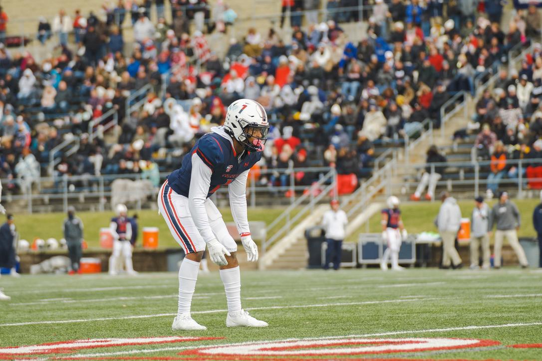
[[[167,183],[177,194],[188,198],[192,174],[192,155],[198,157],[212,170],[207,198],[223,185],[233,182],[238,175],[252,168],[262,157],[261,152],[245,152],[241,159],[228,139],[217,133],[207,133],[196,142],[190,153],[183,157],[182,166],[174,170]]]

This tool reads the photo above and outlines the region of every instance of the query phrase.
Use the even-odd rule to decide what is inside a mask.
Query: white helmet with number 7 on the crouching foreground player
[[[267,140],[269,123],[266,110],[260,103],[251,99],[240,99],[231,103],[226,113],[224,125],[230,130],[245,149],[261,152]],[[250,139],[253,139],[250,141]]]

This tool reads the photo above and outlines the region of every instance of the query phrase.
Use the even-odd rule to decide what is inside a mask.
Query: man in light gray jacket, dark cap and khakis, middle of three
[[[483,197],[474,199],[476,205],[470,217],[470,269],[478,270],[480,259],[480,246],[482,246],[482,269],[489,270],[489,222],[491,221],[491,209],[483,201]]]

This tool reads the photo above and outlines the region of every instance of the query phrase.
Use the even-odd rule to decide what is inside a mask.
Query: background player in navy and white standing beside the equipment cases
[[[384,251],[380,268],[388,270],[388,260],[391,255],[391,269],[394,271],[402,271],[403,267],[399,266],[399,249],[401,241],[406,240],[408,233],[403,226],[401,219],[401,211],[399,211],[399,199],[392,195],[388,198],[388,208],[382,210],[382,240],[387,242],[388,248]]]

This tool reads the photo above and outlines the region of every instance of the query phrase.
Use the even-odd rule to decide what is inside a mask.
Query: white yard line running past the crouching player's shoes
[[[314,305],[264,306],[264,307],[250,307],[250,308],[247,308],[246,310],[251,311],[251,310],[308,309],[308,308],[311,308],[311,307],[372,305],[372,304],[383,304],[383,303],[401,303],[401,302],[412,302],[412,301],[427,301],[427,300],[435,300],[435,299],[441,299],[441,298],[424,298],[424,299],[413,298],[413,299],[393,299],[393,300],[362,301],[362,302],[350,302],[350,303],[314,304]],[[222,312],[227,312],[227,311],[228,310],[192,311],[192,314],[222,313]],[[87,318],[87,319],[82,318],[82,319],[72,319],[72,320],[49,320],[49,321],[18,322],[18,323],[0,324],[0,327],[67,324],[67,323],[78,323],[78,322],[126,320],[126,319],[137,319],[137,318],[154,318],[154,317],[175,316],[176,314],[177,313],[158,313],[158,314],[141,314],[139,316],[124,316],[124,317],[100,317],[100,318]]]

